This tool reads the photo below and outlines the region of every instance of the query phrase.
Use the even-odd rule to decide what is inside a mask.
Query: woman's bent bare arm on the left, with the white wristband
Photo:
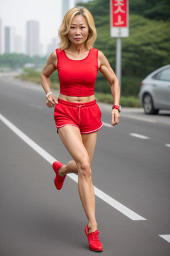
[[[46,94],[50,92],[50,75],[54,71],[56,71],[56,65],[57,65],[56,51],[53,51],[50,57],[48,57],[46,65],[44,66],[44,69],[42,70],[42,73],[41,73],[41,85]],[[56,104],[58,104],[56,97],[52,94],[48,95],[48,98],[46,99],[46,105],[48,107],[54,107],[54,105]]]

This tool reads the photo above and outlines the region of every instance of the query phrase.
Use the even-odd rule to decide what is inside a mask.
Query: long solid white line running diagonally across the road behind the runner
[[[25,143],[27,143],[27,145],[29,145],[32,149],[34,149],[37,153],[39,153],[39,155],[41,155],[41,157],[43,157],[48,163],[50,163],[52,165],[52,163],[54,161],[58,161],[54,157],[52,157],[52,155],[50,155],[48,152],[46,152],[44,149],[42,149],[42,147],[40,147],[32,139],[30,139],[27,135],[25,135],[25,133],[23,133],[20,129],[18,129],[15,125],[13,125],[13,123],[11,123],[3,115],[1,115],[1,113],[0,113],[0,119],[1,119],[1,121],[3,121],[3,123],[5,123],[5,125],[7,125],[7,127],[9,127],[9,129],[11,129],[21,139],[23,139],[23,141],[25,141]],[[72,180],[74,180],[74,181],[76,181],[76,183],[78,183],[77,175],[74,175],[73,173],[71,173],[71,174],[68,174],[68,177],[70,177]],[[94,191],[95,191],[95,195],[97,197],[99,197],[100,199],[102,199],[103,201],[105,201],[106,203],[108,203],[109,205],[111,205],[112,207],[114,207],[115,209],[117,209],[118,211],[123,213],[124,215],[126,215],[129,219],[131,219],[133,221],[145,221],[146,220],[145,218],[141,217],[134,211],[131,211],[130,209],[128,209],[128,207],[122,205],[122,203],[119,203],[118,201],[116,201],[115,199],[113,199],[112,197],[110,197],[109,195],[107,195],[106,193],[104,193],[103,191],[98,189],[97,187],[94,187]]]

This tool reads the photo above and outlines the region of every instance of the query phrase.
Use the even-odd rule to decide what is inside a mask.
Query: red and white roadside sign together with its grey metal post
[[[121,37],[129,36],[129,0],[110,0],[110,36],[116,37],[116,76],[121,86]]]

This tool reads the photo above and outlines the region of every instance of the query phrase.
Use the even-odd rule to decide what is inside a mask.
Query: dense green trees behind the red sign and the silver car
[[[138,95],[141,80],[151,71],[170,63],[169,15],[165,8],[170,2],[129,2],[129,37],[122,38],[122,95]],[[116,38],[110,37],[110,1],[94,0],[84,6],[92,13],[98,32],[94,47],[106,55],[115,70]],[[110,91],[100,73],[96,91]]]

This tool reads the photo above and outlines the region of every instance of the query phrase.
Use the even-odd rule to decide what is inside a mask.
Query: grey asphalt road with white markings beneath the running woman
[[[61,191],[54,187],[52,160],[71,158],[44,92],[7,75],[0,76],[0,90],[0,255],[94,255],[77,183],[66,177]],[[123,108],[120,124],[111,127],[111,106],[99,105],[105,126],[92,177],[102,255],[169,256],[170,111],[147,116]]]

